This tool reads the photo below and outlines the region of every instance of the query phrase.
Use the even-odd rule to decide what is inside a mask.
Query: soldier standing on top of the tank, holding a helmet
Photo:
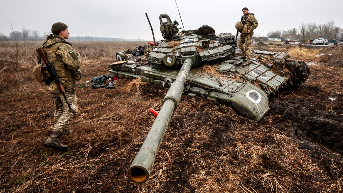
[[[242,50],[242,53],[244,56],[242,56],[243,59],[246,59],[245,63],[242,66],[247,66],[249,65],[250,58],[251,58],[251,37],[254,34],[253,30],[256,29],[258,26],[258,22],[255,18],[255,14],[250,13],[248,8],[243,8],[243,14],[242,19],[240,22],[243,22],[244,17],[246,17],[246,22],[245,25],[247,26],[247,32],[246,33],[241,33],[240,34],[240,39],[238,41],[238,47]]]

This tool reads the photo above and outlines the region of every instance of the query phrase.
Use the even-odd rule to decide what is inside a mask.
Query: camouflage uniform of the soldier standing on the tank
[[[238,41],[238,47],[242,50],[242,53],[247,57],[247,60],[251,58],[251,37],[254,34],[253,30],[256,29],[258,26],[258,22],[255,18],[255,14],[247,13],[248,18],[246,19],[245,25],[247,25],[248,30],[250,30],[250,34],[240,34],[240,39]],[[242,16],[243,21],[244,15]]]

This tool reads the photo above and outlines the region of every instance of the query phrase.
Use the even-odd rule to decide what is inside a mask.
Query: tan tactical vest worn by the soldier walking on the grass
[[[44,51],[44,54],[46,55],[48,62],[52,64],[52,66],[54,66],[57,76],[59,78],[68,78],[69,76],[71,76],[71,70],[68,68],[66,64],[64,64],[62,61],[60,61],[57,58],[57,54],[56,54],[57,49],[63,44],[65,43],[57,42],[54,45],[49,46],[49,47],[43,46],[43,51]],[[42,65],[46,66],[44,63]],[[45,77],[50,76],[48,70],[43,70],[43,73]]]

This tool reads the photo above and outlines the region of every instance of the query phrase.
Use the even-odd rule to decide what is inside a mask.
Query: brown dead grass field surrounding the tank
[[[341,47],[274,47],[316,65],[309,66],[311,75],[298,90],[271,98],[271,110],[259,122],[182,95],[150,179],[135,185],[127,170],[154,122],[149,108],[161,108],[166,90],[124,79],[113,90],[76,88],[79,112],[68,127],[74,133],[62,138],[70,149],[45,148],[53,104],[32,76],[39,46],[20,42],[16,52],[12,42],[0,42],[0,193],[343,191],[342,156],[328,149],[343,150],[342,141],[330,138],[343,137]],[[80,82],[107,75],[116,52],[137,46],[73,43],[84,64]],[[317,52],[332,57],[324,63]]]

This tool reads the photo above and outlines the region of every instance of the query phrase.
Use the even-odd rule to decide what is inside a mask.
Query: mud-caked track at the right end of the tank
[[[283,87],[284,90],[294,90],[300,86],[310,75],[310,69],[304,61],[286,60],[285,68],[291,73],[291,78]]]

